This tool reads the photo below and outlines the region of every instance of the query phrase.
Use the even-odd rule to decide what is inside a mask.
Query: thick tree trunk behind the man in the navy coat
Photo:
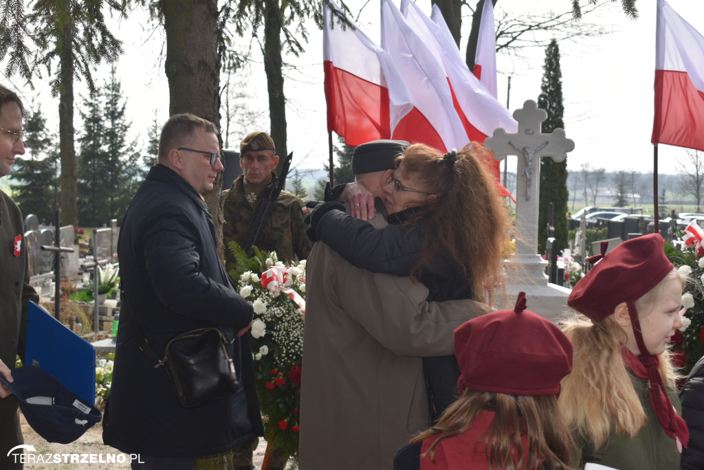
[[[169,114],[192,113],[220,129],[220,58],[216,0],[161,0],[166,32],[165,72]],[[219,136],[222,148],[222,136]],[[213,191],[203,194],[213,215],[222,256],[222,172]]]

